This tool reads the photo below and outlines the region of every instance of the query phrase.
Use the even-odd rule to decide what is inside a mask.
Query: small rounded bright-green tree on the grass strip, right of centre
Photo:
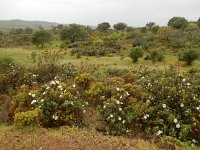
[[[143,48],[137,46],[130,50],[129,57],[132,59],[133,63],[136,63],[138,62],[138,59],[143,56],[143,54],[144,54]]]

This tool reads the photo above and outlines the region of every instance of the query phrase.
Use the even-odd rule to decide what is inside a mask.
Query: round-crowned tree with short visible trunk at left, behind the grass
[[[43,48],[45,43],[51,41],[52,35],[48,31],[40,30],[36,31],[32,36],[32,43],[35,45],[40,45]]]

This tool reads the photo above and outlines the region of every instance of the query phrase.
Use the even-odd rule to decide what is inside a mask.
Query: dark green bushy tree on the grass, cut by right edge
[[[195,49],[189,49],[179,54],[179,60],[185,61],[188,65],[192,65],[192,62],[199,58],[199,52]]]

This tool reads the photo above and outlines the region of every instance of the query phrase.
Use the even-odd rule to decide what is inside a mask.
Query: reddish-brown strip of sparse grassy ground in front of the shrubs
[[[134,137],[113,137],[95,131],[60,127],[59,129],[15,129],[0,126],[1,150],[164,150],[167,145],[156,145],[151,140]],[[176,147],[177,150],[191,149]]]

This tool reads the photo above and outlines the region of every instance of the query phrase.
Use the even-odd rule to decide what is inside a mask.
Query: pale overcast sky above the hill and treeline
[[[44,20],[97,25],[125,22],[166,25],[174,16],[200,17],[200,0],[0,0],[0,19]]]

